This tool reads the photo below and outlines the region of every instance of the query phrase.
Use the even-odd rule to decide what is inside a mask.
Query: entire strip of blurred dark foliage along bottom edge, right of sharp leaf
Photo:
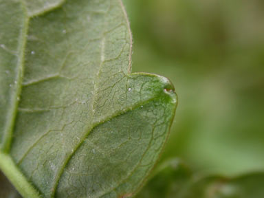
[[[165,162],[136,198],[262,198],[264,172],[199,177],[177,159]]]

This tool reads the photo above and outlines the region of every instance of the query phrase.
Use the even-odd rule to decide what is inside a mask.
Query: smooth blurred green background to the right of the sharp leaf
[[[170,78],[179,96],[162,160],[197,173],[264,170],[264,1],[123,1],[133,72]]]

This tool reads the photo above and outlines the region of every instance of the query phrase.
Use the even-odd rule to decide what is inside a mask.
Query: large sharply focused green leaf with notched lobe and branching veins
[[[52,3],[51,3],[52,2]],[[0,168],[23,197],[129,197],[177,97],[131,74],[120,0],[0,0]]]

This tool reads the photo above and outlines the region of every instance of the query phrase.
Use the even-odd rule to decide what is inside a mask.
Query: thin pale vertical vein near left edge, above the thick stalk
[[[24,72],[24,59],[25,59],[25,45],[28,34],[28,24],[29,18],[26,12],[25,5],[21,1],[21,7],[23,8],[25,19],[23,20],[23,25],[21,25],[21,32],[19,34],[19,45],[17,47],[17,67],[16,76],[14,79],[14,91],[12,91],[12,96],[10,97],[10,110],[7,115],[7,122],[5,124],[5,129],[3,132],[3,152],[8,153],[10,151],[10,146],[12,142],[12,133],[14,130],[14,122],[17,117],[17,108],[19,105],[19,96],[21,94],[21,87],[23,81]]]

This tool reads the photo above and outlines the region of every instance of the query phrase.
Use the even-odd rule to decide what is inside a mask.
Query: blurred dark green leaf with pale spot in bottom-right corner
[[[264,173],[234,178],[210,176],[192,181],[177,198],[261,198],[264,197]],[[173,197],[170,197],[173,198]]]

